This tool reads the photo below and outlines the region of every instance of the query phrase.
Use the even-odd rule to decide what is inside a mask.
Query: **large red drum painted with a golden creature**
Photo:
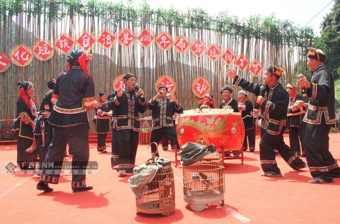
[[[214,110],[214,111],[212,111]],[[223,112],[212,109],[203,113],[181,114],[177,124],[177,139],[180,147],[187,142],[214,144],[216,149],[239,150],[244,140],[244,123],[238,112]]]

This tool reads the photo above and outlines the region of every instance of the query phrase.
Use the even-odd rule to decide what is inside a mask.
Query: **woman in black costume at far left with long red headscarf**
[[[36,119],[36,103],[33,98],[32,82],[18,82],[20,90],[17,97],[17,116],[12,125],[12,131],[17,134],[17,165],[21,169],[33,169],[35,155],[26,152],[33,143],[33,130]]]

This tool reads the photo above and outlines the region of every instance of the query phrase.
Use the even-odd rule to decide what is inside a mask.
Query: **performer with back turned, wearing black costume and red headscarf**
[[[68,136],[74,142],[72,157],[73,192],[91,190],[86,186],[86,167],[89,159],[88,120],[86,111],[98,108],[95,99],[94,83],[87,71],[92,55],[85,51],[75,50],[68,54],[66,69],[57,77],[52,95],[55,103],[49,123],[53,127],[52,142],[43,164],[43,173],[36,188],[45,192],[53,189],[48,184],[58,184],[60,168],[63,164]],[[50,167],[51,166],[51,167]]]

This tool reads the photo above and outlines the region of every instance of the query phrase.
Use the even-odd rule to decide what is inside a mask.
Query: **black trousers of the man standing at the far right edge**
[[[304,149],[310,174],[325,181],[340,177],[338,162],[329,151],[328,133],[332,125],[327,125],[322,116],[320,125],[306,123]]]

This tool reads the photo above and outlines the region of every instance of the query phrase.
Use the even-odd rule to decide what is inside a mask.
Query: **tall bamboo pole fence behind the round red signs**
[[[29,3],[26,7],[30,7]],[[107,14],[106,18],[86,17],[82,15],[67,15],[61,20],[49,20],[46,15],[27,16],[25,13],[17,15],[5,15],[1,19],[0,27],[0,51],[10,55],[10,51],[18,44],[25,44],[32,48],[33,43],[38,39],[47,39],[53,43],[57,35],[66,33],[72,37],[81,31],[90,31],[97,35],[103,29],[108,29],[116,35],[122,28],[129,28],[138,33],[142,28],[153,31],[154,36],[160,32],[168,32],[172,38],[179,35],[186,36],[190,41],[201,39],[205,45],[216,44],[223,49],[229,48],[235,52],[235,56],[245,55],[249,63],[259,61],[262,64],[263,72],[269,64],[282,67],[286,73],[281,77],[283,86],[296,81],[294,68],[297,63],[303,61],[299,55],[301,47],[289,43],[273,44],[269,40],[258,38],[242,38],[240,35],[221,34],[213,30],[187,28],[180,26],[167,26],[163,24],[144,23],[137,26],[134,21],[120,20],[116,22],[112,15]],[[89,66],[89,73],[92,74],[95,82],[95,91],[113,92],[114,79],[124,73],[133,73],[137,76],[140,87],[144,90],[145,98],[149,100],[155,94],[155,82],[162,75],[170,75],[177,84],[175,93],[180,104],[185,110],[196,108],[200,98],[195,96],[191,90],[193,80],[198,76],[204,76],[210,81],[211,91],[215,101],[219,104],[223,99],[220,89],[224,85],[234,88],[233,97],[237,99],[239,87],[233,86],[232,80],[226,78],[227,67],[237,70],[235,64],[225,65],[221,59],[212,62],[207,56],[194,56],[188,51],[185,54],[177,53],[174,48],[162,50],[156,44],[150,47],[142,47],[136,41],[131,47],[122,47],[118,43],[111,49],[103,49],[98,44],[91,50],[93,61]],[[28,80],[34,84],[34,98],[38,105],[44,94],[48,91],[46,82],[53,76],[57,76],[66,66],[66,55],[54,53],[51,59],[41,61],[34,57],[32,63],[25,67],[11,64],[10,68],[0,73],[0,119],[14,119],[16,115],[16,101],[18,87],[17,82]],[[299,66],[298,66],[299,67]],[[263,73],[262,72],[262,73]],[[240,72],[238,75],[252,82],[261,82],[262,75],[253,77],[249,71]],[[254,96],[250,94],[254,102]],[[91,121],[94,112],[88,114]],[[151,116],[147,111],[141,117]],[[90,123],[90,131],[94,125]]]

